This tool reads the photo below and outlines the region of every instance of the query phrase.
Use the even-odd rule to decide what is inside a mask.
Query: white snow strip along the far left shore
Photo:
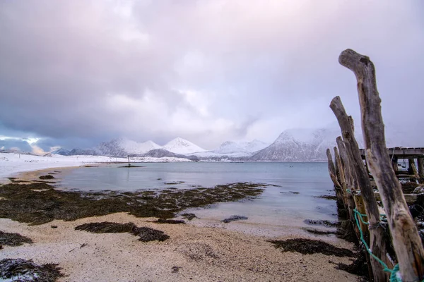
[[[0,153],[0,180],[25,171],[37,171],[45,168],[65,166],[83,166],[86,164],[108,163],[114,161],[128,161],[126,158],[114,158],[105,156],[61,156],[52,154],[49,157],[35,156],[31,154]],[[131,158],[131,162],[166,162],[166,161],[190,161],[189,159],[177,158]]]

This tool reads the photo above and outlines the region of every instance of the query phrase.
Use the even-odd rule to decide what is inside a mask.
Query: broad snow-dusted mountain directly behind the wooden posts
[[[336,146],[336,128],[285,130],[269,147],[248,161],[326,161],[326,149]],[[362,135],[355,133],[361,147]]]

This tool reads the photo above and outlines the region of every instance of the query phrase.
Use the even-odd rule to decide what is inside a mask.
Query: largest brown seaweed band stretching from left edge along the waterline
[[[30,223],[47,223],[54,219],[73,221],[90,216],[128,212],[138,217],[171,219],[192,207],[205,207],[216,202],[234,202],[257,197],[263,184],[232,183],[215,188],[194,188],[160,192],[78,192],[54,189],[47,183],[0,186],[0,218]]]

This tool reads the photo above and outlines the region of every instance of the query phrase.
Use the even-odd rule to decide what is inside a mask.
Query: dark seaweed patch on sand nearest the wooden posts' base
[[[334,247],[321,240],[310,240],[304,238],[295,238],[288,240],[269,240],[274,247],[282,249],[283,252],[300,252],[303,255],[310,255],[320,252],[324,255],[334,255],[336,257],[353,257],[351,250],[341,247]]]

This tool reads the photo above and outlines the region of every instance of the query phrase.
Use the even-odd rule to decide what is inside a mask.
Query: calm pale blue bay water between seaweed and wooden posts
[[[262,235],[293,233],[305,227],[305,219],[336,220],[336,203],[317,198],[333,194],[326,163],[157,163],[142,168],[107,165],[76,168],[61,176],[61,187],[76,190],[150,190],[192,185],[213,187],[235,182],[268,183],[254,200],[214,204],[190,209],[211,226],[242,228]],[[166,185],[184,181],[184,183]],[[298,192],[298,194],[293,193]],[[220,220],[233,214],[248,216],[247,221],[223,225]],[[206,224],[207,225],[207,224]]]

